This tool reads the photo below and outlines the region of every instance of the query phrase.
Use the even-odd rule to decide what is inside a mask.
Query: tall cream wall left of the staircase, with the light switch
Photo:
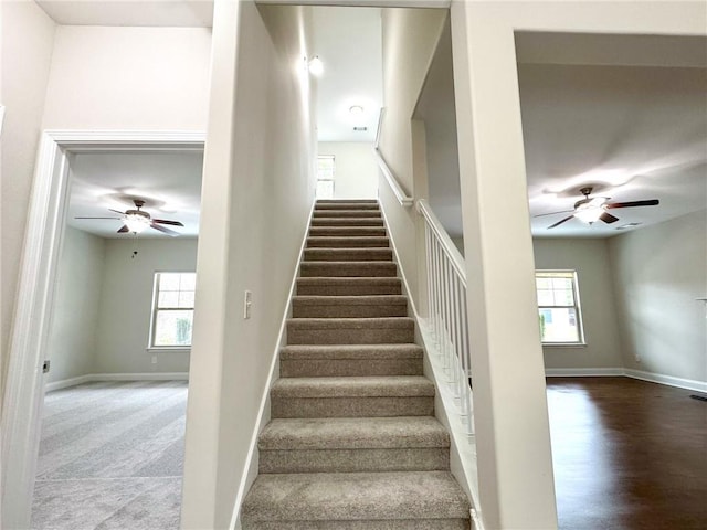
[[[309,17],[215,3],[182,528],[229,528],[253,479],[251,443],[314,201]]]

